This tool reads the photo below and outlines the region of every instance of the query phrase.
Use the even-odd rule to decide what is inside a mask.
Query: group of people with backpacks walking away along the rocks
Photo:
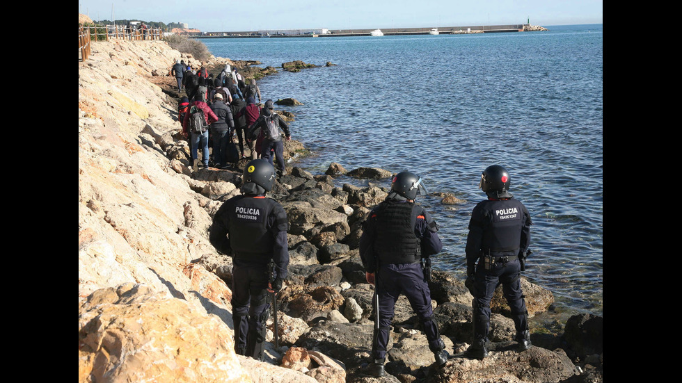
[[[264,158],[271,165],[276,159],[279,174],[286,174],[281,131],[286,140],[291,140],[289,126],[274,112],[272,100],[265,101],[262,108],[256,104],[256,98],[259,104],[262,98],[255,79],[247,84],[237,68],[229,64],[214,76],[204,66],[193,70],[184,60],[177,60],[170,74],[175,76],[177,89],[187,94],[178,104],[178,120],[189,141],[194,171],[209,165],[228,168],[229,163],[246,158],[246,145],[251,159]],[[203,127],[191,129],[193,111],[203,115]],[[212,156],[209,145],[213,148]]]

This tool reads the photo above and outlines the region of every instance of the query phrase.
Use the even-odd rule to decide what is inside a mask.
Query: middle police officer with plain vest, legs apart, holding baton
[[[420,192],[421,190],[421,192]],[[420,261],[441,251],[438,226],[427,211],[414,203],[418,193],[426,193],[422,179],[411,172],[396,174],[391,191],[363,223],[360,257],[367,282],[374,285],[374,318],[372,360],[366,372],[381,377],[386,374],[386,346],[395,302],[406,295],[417,313],[434,352],[436,364],[442,366],[449,356],[433,318],[431,291]],[[430,266],[429,266],[430,267]]]

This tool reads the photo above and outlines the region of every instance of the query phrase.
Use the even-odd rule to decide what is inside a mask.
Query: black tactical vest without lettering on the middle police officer
[[[420,239],[414,233],[420,211],[420,206],[412,202],[381,202],[375,211],[374,238],[374,254],[380,263],[413,263],[421,259]]]

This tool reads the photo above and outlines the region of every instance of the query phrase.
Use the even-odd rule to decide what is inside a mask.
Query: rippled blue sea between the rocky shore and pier
[[[409,170],[429,193],[463,199],[418,199],[441,229],[434,265],[462,279],[470,212],[485,197],[481,172],[505,165],[534,223],[525,277],[554,293],[555,315],[603,315],[603,24],[548,28],[201,41],[215,56],[261,67],[321,65],[258,83],[264,100],[304,104],[279,107],[296,115],[293,138],[316,153],[297,165],[313,174],[331,162]]]

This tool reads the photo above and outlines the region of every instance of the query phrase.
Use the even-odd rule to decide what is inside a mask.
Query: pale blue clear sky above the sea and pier
[[[79,0],[100,19],[182,22],[203,32],[602,24],[602,0]]]

